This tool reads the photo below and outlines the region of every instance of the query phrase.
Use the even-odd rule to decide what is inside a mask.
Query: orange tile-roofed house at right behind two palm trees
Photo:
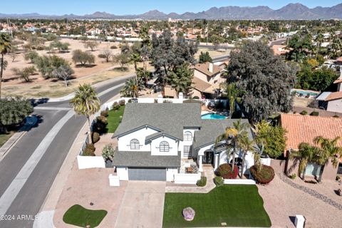
[[[288,159],[285,165],[285,172],[288,175],[294,173],[298,175],[298,165],[294,165],[294,162],[289,160],[289,152],[299,150],[301,142],[314,145],[314,138],[317,136],[329,139],[342,136],[342,118],[281,114],[281,127],[286,130],[284,155]],[[338,142],[338,146],[342,146],[342,140]],[[321,167],[318,165],[309,164],[306,168],[306,176],[318,179],[320,170]],[[338,167],[333,167],[332,163],[328,162],[324,167],[322,180],[335,180],[336,175],[342,175],[342,159],[340,159]]]

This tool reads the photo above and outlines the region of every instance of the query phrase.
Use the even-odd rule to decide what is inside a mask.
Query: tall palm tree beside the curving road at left
[[[89,142],[92,142],[90,115],[93,115],[100,110],[100,100],[98,99],[95,90],[89,84],[78,86],[78,89],[75,91],[75,97],[70,100],[70,103],[73,105],[73,110],[75,110],[78,115],[86,115],[89,125]]]

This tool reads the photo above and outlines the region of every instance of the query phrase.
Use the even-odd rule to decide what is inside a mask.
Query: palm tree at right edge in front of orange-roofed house
[[[314,139],[314,142],[321,147],[321,153],[318,157],[318,164],[322,167],[318,182],[321,182],[324,167],[329,160],[331,160],[333,163],[333,167],[338,165],[338,160],[342,157],[342,147],[338,147],[337,143],[341,139],[341,137],[336,137],[331,140],[328,138],[323,138],[322,136],[318,136]]]

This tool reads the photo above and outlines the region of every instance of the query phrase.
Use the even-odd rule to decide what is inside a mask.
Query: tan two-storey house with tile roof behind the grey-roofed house
[[[192,97],[215,98],[218,95],[219,83],[225,81],[221,77],[222,65],[214,63],[197,63],[192,78]]]

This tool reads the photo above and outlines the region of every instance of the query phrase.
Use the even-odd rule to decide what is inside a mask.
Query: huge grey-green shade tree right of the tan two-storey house
[[[242,109],[252,122],[259,122],[277,112],[289,112],[293,99],[296,70],[269,46],[257,41],[244,42],[232,51],[227,67],[229,82],[236,82],[242,93]]]

